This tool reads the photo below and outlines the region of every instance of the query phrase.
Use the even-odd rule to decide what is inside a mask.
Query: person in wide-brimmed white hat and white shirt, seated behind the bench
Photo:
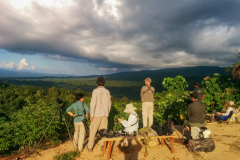
[[[138,131],[138,115],[135,112],[137,108],[133,106],[133,104],[127,104],[124,112],[129,113],[128,120],[118,119],[120,123],[125,127],[124,131],[128,133],[134,133],[134,131]]]

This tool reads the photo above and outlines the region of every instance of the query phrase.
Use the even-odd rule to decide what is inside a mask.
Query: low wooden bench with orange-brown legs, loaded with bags
[[[144,139],[144,136],[141,135],[137,135],[137,136],[120,136],[120,137],[113,137],[113,138],[102,138],[103,141],[103,154],[106,151],[106,145],[108,142],[108,157],[107,160],[110,160],[111,157],[111,151],[112,151],[112,142],[113,141],[121,141],[123,139],[137,139],[137,140],[141,140]],[[174,152],[174,147],[173,147],[173,141],[176,138],[176,136],[151,136],[151,138],[157,138],[157,139],[161,139],[161,145],[164,145],[164,139],[165,138],[169,138],[170,140],[170,148],[171,148],[171,153]]]

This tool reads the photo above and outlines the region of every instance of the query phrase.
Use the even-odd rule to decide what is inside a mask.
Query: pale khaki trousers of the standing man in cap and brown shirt
[[[143,127],[151,127],[153,124],[153,102],[142,103]],[[149,120],[149,123],[148,123]]]

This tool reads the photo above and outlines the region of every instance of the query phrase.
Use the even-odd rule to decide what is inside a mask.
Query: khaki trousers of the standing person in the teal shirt
[[[85,127],[82,122],[74,122],[74,137],[73,137],[73,146],[78,146],[79,151],[83,149],[83,142],[85,137]]]

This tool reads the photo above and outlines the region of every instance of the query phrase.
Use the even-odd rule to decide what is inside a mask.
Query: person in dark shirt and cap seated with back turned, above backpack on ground
[[[188,105],[188,120],[185,120],[184,125],[188,131],[189,127],[205,127],[207,121],[205,120],[205,114],[207,106],[198,100],[197,93],[191,93],[192,103]]]

